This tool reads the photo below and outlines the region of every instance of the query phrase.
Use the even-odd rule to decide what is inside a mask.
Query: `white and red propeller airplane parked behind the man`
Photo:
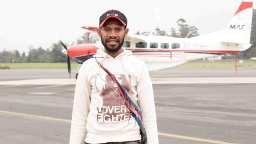
[[[191,38],[129,35],[125,37],[123,47],[142,59],[149,71],[179,66],[196,59],[245,51],[252,46],[250,44],[252,13],[253,2],[242,2],[223,31]],[[82,28],[92,32],[96,32],[97,29],[97,27]],[[68,65],[70,65],[70,57],[82,63],[91,58],[96,53],[96,49],[103,48],[101,42],[77,44],[68,48],[62,42],[61,44],[65,47],[62,52],[68,55]]]

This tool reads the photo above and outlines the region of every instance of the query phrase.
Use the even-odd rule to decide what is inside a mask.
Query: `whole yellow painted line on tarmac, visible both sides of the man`
[[[54,118],[54,117],[45,117],[45,116],[37,116],[37,115],[29,115],[26,113],[18,113],[18,112],[9,112],[9,111],[0,111],[0,113],[6,113],[10,115],[18,115],[18,116],[28,116],[33,118],[42,118],[44,120],[50,120],[50,121],[61,121],[61,122],[67,122],[71,123],[71,120],[65,120],[62,118]],[[174,135],[170,133],[158,133],[159,136],[166,136],[166,137],[172,137],[172,138],[180,138],[184,140],[191,140],[191,141],[200,141],[200,142],[208,142],[208,143],[218,143],[218,144],[235,144],[235,143],[229,143],[229,142],[221,142],[221,141],[214,141],[214,140],[207,140],[204,138],[198,138],[198,137],[188,137],[188,136],[181,136],[181,135]]]

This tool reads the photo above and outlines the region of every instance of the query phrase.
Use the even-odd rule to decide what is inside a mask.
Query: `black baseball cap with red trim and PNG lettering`
[[[124,13],[121,13],[120,11],[111,9],[109,11],[106,11],[104,14],[100,16],[100,27],[104,25],[104,23],[107,21],[107,19],[110,18],[116,18],[118,19],[124,26],[127,26],[127,19],[125,17]]]

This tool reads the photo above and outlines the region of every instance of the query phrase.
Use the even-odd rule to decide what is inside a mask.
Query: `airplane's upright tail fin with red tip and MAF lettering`
[[[221,42],[250,44],[252,30],[253,2],[242,2],[224,30]]]

